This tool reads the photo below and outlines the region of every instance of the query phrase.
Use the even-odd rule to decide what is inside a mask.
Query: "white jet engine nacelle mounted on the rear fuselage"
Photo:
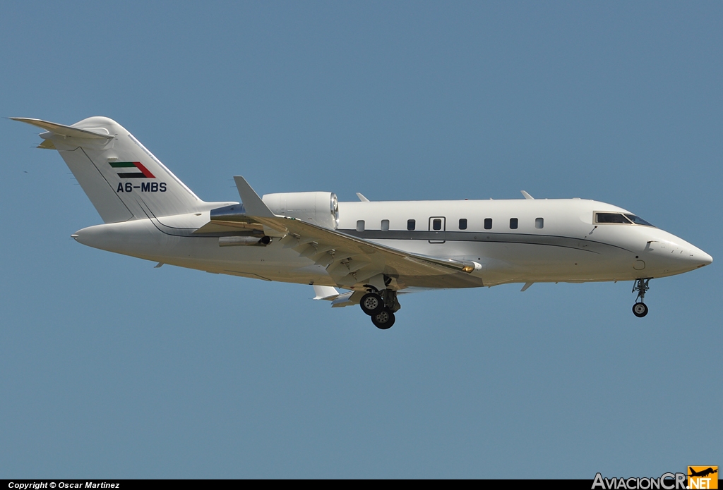
[[[339,225],[339,201],[333,192],[265,194],[262,201],[274,214],[291,216],[325,228],[336,229]]]

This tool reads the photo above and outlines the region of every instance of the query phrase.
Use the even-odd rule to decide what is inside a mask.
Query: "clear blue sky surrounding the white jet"
[[[0,115],[119,121],[206,200],[594,198],[714,263],[403,298],[84,247],[0,120],[0,477],[659,476],[723,465],[723,5],[4,2]],[[703,436],[703,437],[699,437]]]

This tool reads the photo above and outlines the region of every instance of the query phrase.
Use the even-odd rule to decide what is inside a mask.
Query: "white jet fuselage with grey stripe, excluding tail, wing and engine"
[[[226,204],[226,203],[224,203]],[[625,212],[585,199],[500,201],[372,201],[339,203],[341,232],[398,250],[475,261],[469,286],[511,282],[626,281],[672,276],[711,263],[710,255],[662,229],[638,224],[594,224],[594,212]],[[442,219],[435,231],[430,219]],[[510,219],[518,228],[510,229]],[[543,219],[543,227],[535,226]],[[409,231],[408,220],[416,229]],[[467,220],[460,229],[460,219]],[[484,220],[492,228],[484,229]],[[283,248],[220,247],[218,237],[192,235],[209,211],[101,224],[77,232],[78,242],[111,252],[218,274],[335,286],[323,266]],[[364,231],[357,222],[364,221]],[[382,230],[382,220],[388,229]],[[429,279],[426,279],[429,281]],[[401,284],[400,287],[449,287]]]

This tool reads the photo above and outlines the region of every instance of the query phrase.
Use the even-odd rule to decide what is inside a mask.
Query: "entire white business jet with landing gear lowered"
[[[648,313],[653,278],[692,271],[710,255],[630,211],[586,199],[338,202],[330,192],[259,197],[235,177],[241,203],[205,202],[115,121],[46,130],[105,224],[84,245],[216,274],[312,284],[333,307],[360,305],[389,328],[398,294],[535,282],[634,281]],[[346,290],[341,292],[339,289]]]

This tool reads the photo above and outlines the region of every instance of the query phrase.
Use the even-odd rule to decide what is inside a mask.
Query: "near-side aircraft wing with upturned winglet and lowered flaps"
[[[397,279],[401,283],[398,287],[412,285],[408,284],[408,279],[429,276],[469,281],[470,285],[472,282],[479,283],[479,278],[473,279],[469,276],[471,272],[482,268],[478,263],[397,250],[346,235],[335,229],[288,216],[278,216],[268,209],[243,177],[234,177],[234,180],[239,188],[247,219],[262,224],[268,232],[276,236],[282,236],[280,241],[284,248],[292,248],[299,255],[324,266],[338,286],[349,288],[363,285],[364,281],[381,274]],[[214,222],[222,223],[219,220]],[[459,277],[453,279],[451,276]],[[382,288],[377,286],[377,289],[383,287],[384,285]]]

